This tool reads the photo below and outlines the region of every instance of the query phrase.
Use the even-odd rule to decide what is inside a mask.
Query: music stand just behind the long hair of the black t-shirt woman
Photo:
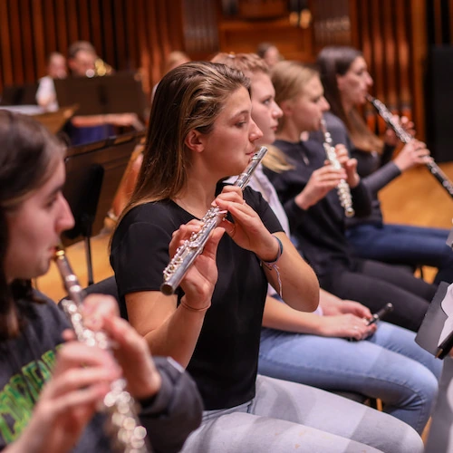
[[[143,135],[130,132],[68,149],[63,195],[75,225],[63,233],[62,242],[71,246],[84,240],[88,284],[93,283],[91,237],[101,232],[130,155]]]

